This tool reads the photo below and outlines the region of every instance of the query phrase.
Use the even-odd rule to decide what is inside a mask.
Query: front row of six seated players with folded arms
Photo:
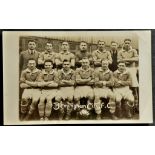
[[[72,111],[78,118],[82,98],[87,99],[87,110],[95,110],[96,119],[101,119],[102,98],[109,99],[107,107],[112,119],[122,117],[122,99],[125,100],[125,117],[132,117],[131,77],[123,62],[118,64],[114,73],[109,70],[108,61],[102,61],[102,67],[94,71],[88,58],[82,59],[82,66],[76,71],[70,68],[67,60],[58,71],[53,69],[51,60],[45,61],[42,71],[36,68],[33,59],[27,66],[20,78],[20,87],[24,89],[20,105],[24,120],[32,117],[37,106],[40,120],[48,120],[55,104],[59,105],[59,119],[64,119],[64,116],[66,120],[70,119]]]

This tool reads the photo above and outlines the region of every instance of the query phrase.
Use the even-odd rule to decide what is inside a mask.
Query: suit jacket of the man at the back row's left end
[[[36,50],[30,51],[26,50],[20,53],[20,69],[24,70],[27,68],[27,63],[29,59],[35,59],[36,62],[39,58],[39,52]]]

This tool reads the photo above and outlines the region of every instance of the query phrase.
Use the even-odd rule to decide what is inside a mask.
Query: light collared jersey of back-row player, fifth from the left
[[[92,52],[93,60],[97,61],[98,59],[108,60],[109,63],[112,63],[111,53],[107,50],[99,51],[98,49]]]

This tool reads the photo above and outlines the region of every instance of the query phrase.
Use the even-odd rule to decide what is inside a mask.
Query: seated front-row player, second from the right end
[[[97,119],[101,119],[102,98],[109,99],[107,107],[110,109],[111,117],[112,119],[117,119],[115,116],[115,98],[110,89],[110,87],[113,86],[113,73],[109,70],[108,65],[108,60],[103,60],[102,67],[95,71],[94,108],[97,114]]]

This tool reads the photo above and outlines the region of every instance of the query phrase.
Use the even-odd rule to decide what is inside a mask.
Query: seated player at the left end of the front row
[[[26,120],[32,116],[40,98],[41,91],[38,87],[40,72],[36,68],[36,61],[29,59],[27,68],[21,73],[20,88],[24,89],[21,99],[21,113],[24,117],[26,116],[24,118]]]

